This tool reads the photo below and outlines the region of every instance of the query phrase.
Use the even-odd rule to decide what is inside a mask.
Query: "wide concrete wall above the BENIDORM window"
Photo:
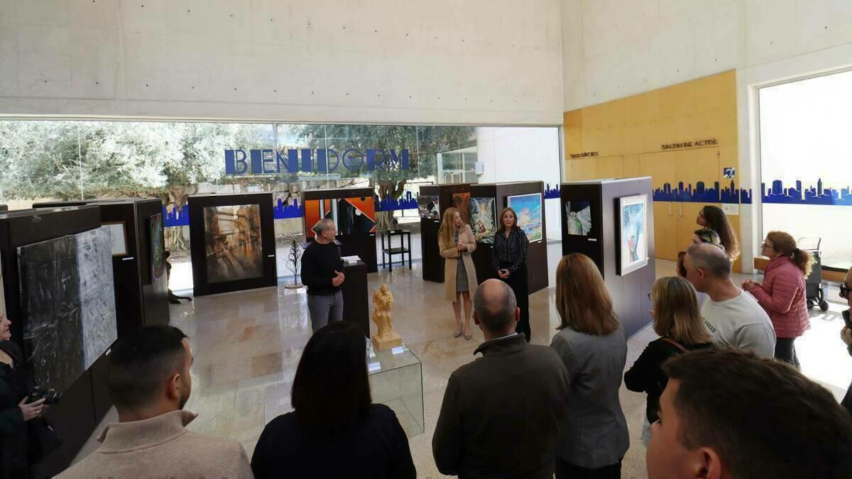
[[[0,0],[0,114],[560,124],[560,0]]]

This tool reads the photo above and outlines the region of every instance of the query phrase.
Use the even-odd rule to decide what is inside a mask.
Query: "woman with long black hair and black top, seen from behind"
[[[292,413],[263,429],[251,470],[264,477],[417,477],[394,412],[371,404],[364,334],[335,322],[314,332],[296,368]]]

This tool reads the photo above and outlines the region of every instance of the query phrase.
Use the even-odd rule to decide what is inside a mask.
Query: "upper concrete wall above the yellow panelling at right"
[[[849,0],[564,0],[565,109],[852,42]]]

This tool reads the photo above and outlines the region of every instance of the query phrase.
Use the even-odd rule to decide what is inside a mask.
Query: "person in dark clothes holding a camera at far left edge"
[[[9,341],[11,324],[0,312],[0,458],[3,478],[20,479],[32,477],[26,450],[26,421],[41,415],[44,400],[25,404],[26,395],[32,390],[32,379],[24,367],[20,348]]]

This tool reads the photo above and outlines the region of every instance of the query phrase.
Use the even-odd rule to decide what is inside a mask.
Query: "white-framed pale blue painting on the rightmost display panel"
[[[620,273],[648,264],[648,195],[619,198]]]

